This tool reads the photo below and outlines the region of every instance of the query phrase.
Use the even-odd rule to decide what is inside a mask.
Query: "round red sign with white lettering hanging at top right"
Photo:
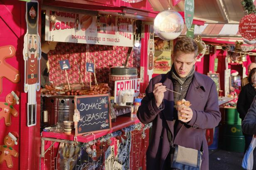
[[[246,15],[240,20],[239,32],[249,41],[256,39],[256,14]]]

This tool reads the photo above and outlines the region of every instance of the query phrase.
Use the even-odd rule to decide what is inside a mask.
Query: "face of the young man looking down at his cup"
[[[186,77],[193,65],[195,64],[195,54],[194,53],[182,53],[177,51],[176,55],[172,55],[172,61],[174,63],[175,70],[180,77]]]

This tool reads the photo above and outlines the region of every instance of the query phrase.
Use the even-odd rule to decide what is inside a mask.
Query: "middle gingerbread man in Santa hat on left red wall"
[[[17,110],[13,107],[19,104],[18,92],[12,91],[5,97],[5,102],[0,102],[0,120],[5,118],[5,125],[11,125],[11,115],[14,117],[18,116]]]

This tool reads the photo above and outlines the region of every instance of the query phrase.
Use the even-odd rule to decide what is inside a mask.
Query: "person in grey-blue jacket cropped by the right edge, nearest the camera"
[[[242,130],[245,134],[254,135],[256,134],[256,96],[254,97],[251,107],[249,108],[244,121],[242,122]],[[256,169],[256,149],[254,149],[254,169]]]

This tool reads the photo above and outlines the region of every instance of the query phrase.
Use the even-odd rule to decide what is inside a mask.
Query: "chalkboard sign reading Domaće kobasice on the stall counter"
[[[111,128],[108,94],[76,96],[75,101],[75,108],[79,110],[81,118],[77,123],[76,136]]]

